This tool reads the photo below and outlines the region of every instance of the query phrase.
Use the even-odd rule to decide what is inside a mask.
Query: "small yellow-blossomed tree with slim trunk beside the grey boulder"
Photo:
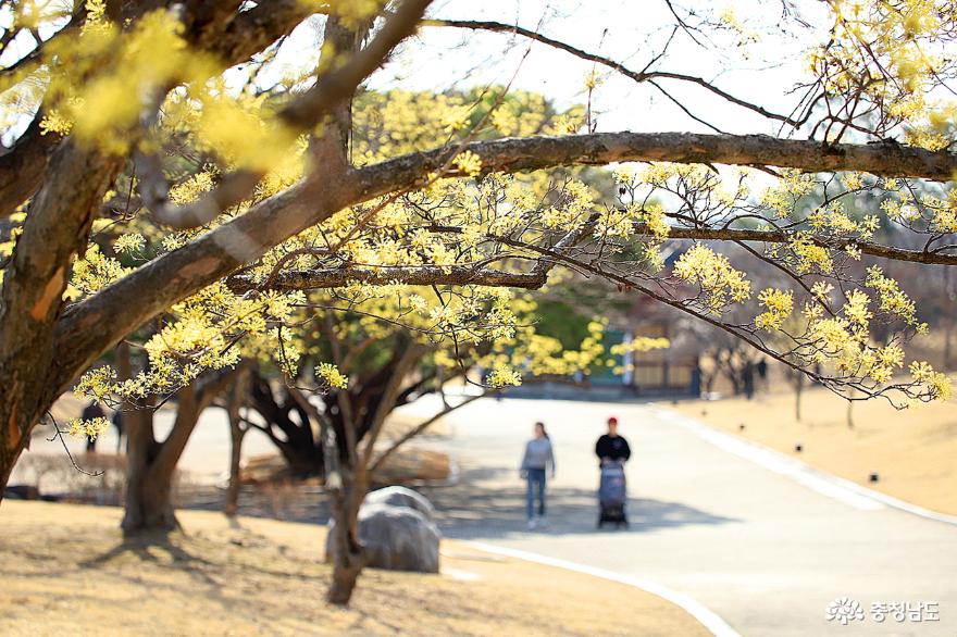
[[[289,349],[301,355],[284,359],[293,372],[290,385],[274,389],[260,379],[253,389],[264,424],[250,421],[250,426],[270,436],[294,474],[321,473],[325,479],[337,547],[328,594],[333,603],[349,601],[362,571],[359,509],[376,472],[398,449],[456,409],[487,395],[486,389],[510,384],[510,370],[522,369],[538,378],[569,377],[591,372],[607,358],[600,322],[592,322],[575,347],[563,347],[557,338],[538,334],[533,323],[537,308],[527,298],[499,292],[486,297],[451,287],[408,292],[370,295],[365,288],[360,297],[344,290],[310,293],[311,327],[301,330]],[[467,309],[468,320],[436,321],[455,309]],[[508,320],[511,312],[520,313],[514,322]],[[662,344],[637,338],[629,347],[635,351]],[[485,371],[483,383],[469,378],[476,370]],[[471,382],[478,391],[447,399],[445,386],[459,379]],[[442,397],[436,413],[386,436],[389,414],[426,394]],[[297,414],[296,420],[290,413]]]

